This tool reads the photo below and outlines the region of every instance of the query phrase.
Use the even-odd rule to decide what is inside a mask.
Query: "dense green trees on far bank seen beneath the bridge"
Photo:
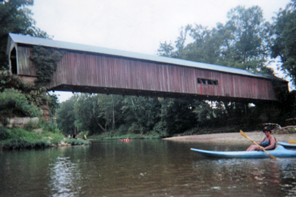
[[[212,107],[212,105],[215,107]],[[197,128],[245,126],[252,106],[242,103],[206,102],[101,94],[75,94],[61,103],[57,123],[64,134],[87,131],[116,137],[126,134],[171,136]],[[247,111],[246,111],[247,110]],[[233,131],[233,130],[231,130]],[[227,132],[227,131],[225,131]]]

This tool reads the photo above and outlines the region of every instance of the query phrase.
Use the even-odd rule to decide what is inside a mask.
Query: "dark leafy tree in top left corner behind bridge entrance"
[[[8,58],[6,47],[8,33],[28,34],[37,37],[47,37],[47,33],[38,29],[32,12],[34,0],[0,0],[0,69],[7,69]]]

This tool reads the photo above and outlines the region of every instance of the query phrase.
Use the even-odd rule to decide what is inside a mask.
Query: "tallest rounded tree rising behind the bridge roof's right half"
[[[231,30],[230,47],[233,58],[239,60],[242,69],[260,71],[268,57],[269,23],[265,22],[262,9],[237,6],[227,13],[225,27]]]

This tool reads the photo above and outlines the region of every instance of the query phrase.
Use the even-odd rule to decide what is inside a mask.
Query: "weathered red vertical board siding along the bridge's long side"
[[[218,80],[219,85],[198,84],[197,78]],[[276,100],[267,78],[74,52],[59,62],[50,88],[60,85]]]

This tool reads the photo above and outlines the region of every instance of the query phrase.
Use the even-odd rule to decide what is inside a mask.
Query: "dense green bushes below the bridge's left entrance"
[[[39,106],[48,101],[50,115],[59,107],[55,95],[43,87],[23,83],[16,75],[0,71],[0,117],[40,117]]]

